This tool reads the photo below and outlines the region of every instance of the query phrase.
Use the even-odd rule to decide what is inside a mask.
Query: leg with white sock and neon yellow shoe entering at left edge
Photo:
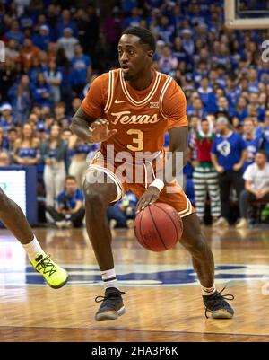
[[[32,267],[43,275],[47,284],[54,289],[65,285],[68,274],[60,268],[39,245],[22,209],[0,188],[0,220],[21,243],[27,252]]]

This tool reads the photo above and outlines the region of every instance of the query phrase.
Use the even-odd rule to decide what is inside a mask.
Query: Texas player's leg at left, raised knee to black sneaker
[[[121,296],[125,293],[117,286],[111,248],[112,236],[107,219],[108,205],[121,198],[122,194],[113,174],[108,176],[105,171],[90,171],[83,185],[87,233],[105,285],[105,295],[95,299],[96,303],[102,302],[95,315],[97,321],[115,320],[125,313]],[[108,179],[112,179],[112,182]]]

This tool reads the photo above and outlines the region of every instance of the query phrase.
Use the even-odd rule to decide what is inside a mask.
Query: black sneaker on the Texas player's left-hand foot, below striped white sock
[[[105,292],[105,296],[97,296],[95,303],[100,303],[99,311],[96,312],[95,320],[106,321],[116,320],[119,316],[126,312],[125,305],[123,303],[121,295],[124,295],[116,287],[108,287]]]

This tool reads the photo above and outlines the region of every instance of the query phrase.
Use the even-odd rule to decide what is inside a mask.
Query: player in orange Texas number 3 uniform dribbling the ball
[[[202,286],[205,309],[213,318],[232,318],[230,304],[216,291],[214,285],[213,254],[201,233],[195,209],[178,182],[171,178],[164,182],[158,176],[147,185],[130,183],[111,171],[117,162],[108,156],[108,145],[114,145],[115,154],[125,151],[156,153],[161,157],[164,135],[169,130],[169,150],[176,175],[176,152],[187,156],[186,98],[178,84],[169,76],[152,68],[155,40],[151,31],[130,27],[122,33],[118,43],[120,69],[100,75],[91,84],[82,106],[74,115],[71,129],[86,143],[101,142],[100,151],[91,162],[84,193],[86,226],[92,248],[100,266],[105,285],[105,296],[96,313],[96,320],[114,320],[125,312],[122,295],[118,289],[111,250],[111,233],[106,220],[106,208],[117,202],[130,189],[140,198],[137,210],[154,201],[173,206],[181,216],[184,231],[181,243],[190,252],[193,265]],[[102,162],[102,158],[105,160]],[[141,164],[145,167],[145,164]],[[147,171],[155,171],[151,163]],[[104,181],[102,181],[104,179]],[[177,189],[169,193],[167,188]]]

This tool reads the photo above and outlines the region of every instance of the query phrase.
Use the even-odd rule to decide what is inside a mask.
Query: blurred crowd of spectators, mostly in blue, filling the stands
[[[36,166],[39,196],[48,208],[66,192],[67,175],[74,177],[74,188],[81,189],[86,159],[98,146],[84,145],[71,133],[72,116],[92,80],[117,66],[121,31],[143,26],[157,40],[153,66],[173,76],[187,97],[188,197],[201,221],[204,205],[210,203],[217,226],[234,222],[229,206],[238,203],[238,225],[247,226],[242,204],[265,200],[267,192],[256,191],[269,186],[263,183],[256,189],[255,179],[249,174],[246,178],[248,166],[261,166],[256,158],[264,157],[266,168],[269,156],[269,61],[263,60],[261,47],[269,31],[226,29],[223,1],[106,4],[104,10],[87,0],[0,1],[0,40],[5,44],[5,61],[0,62],[0,166]],[[134,205],[134,198],[129,203]],[[118,206],[121,214],[124,207]],[[67,224],[68,219],[54,221]],[[118,218],[116,223],[121,224]]]

